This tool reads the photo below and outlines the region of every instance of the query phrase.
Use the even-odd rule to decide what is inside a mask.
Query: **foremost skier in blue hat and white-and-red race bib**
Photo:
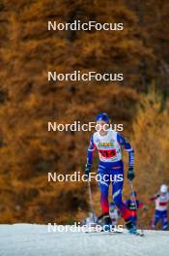
[[[129,220],[130,212],[122,201],[122,191],[124,184],[124,163],[122,160],[121,147],[128,152],[128,172],[127,178],[134,178],[133,160],[134,151],[127,140],[118,132],[109,128],[109,118],[106,113],[99,113],[96,117],[97,132],[91,137],[87,153],[87,163],[85,175],[90,176],[91,166],[95,149],[99,151],[99,189],[100,206],[104,216],[104,228],[111,228],[111,218],[109,215],[108,190],[110,182],[112,183],[112,197],[121,216],[125,219],[126,227],[129,233],[135,233],[136,228]]]

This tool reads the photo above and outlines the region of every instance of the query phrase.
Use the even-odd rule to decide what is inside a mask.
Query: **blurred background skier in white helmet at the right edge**
[[[150,201],[155,202],[155,215],[152,222],[152,229],[155,229],[157,222],[160,220],[162,223],[162,230],[167,230],[167,204],[169,202],[168,187],[165,184],[162,184],[160,186],[160,191],[156,193]]]

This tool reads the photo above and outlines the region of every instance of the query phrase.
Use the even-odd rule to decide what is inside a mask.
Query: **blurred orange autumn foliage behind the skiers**
[[[166,180],[168,168],[167,139],[158,137],[160,129],[165,134],[168,132],[167,113],[157,113],[149,104],[147,113],[137,112],[137,105],[144,99],[141,93],[153,81],[163,96],[168,93],[168,37],[163,23],[157,23],[154,15],[154,11],[155,14],[160,11],[158,18],[163,20],[166,4],[161,7],[154,3],[151,12],[149,5],[142,4],[147,14],[143,25],[138,4],[133,1],[1,2],[0,222],[57,220],[61,223],[83,215],[88,209],[86,184],[48,183],[47,173],[83,172],[90,133],[49,133],[47,122],[79,120],[83,123],[93,121],[98,112],[108,112],[114,123],[124,123],[125,135],[130,139],[130,127],[136,116],[133,124],[136,173],[144,181],[137,183],[140,192],[147,188],[145,200],[148,193],[154,192],[146,178],[157,188],[154,176],[163,170]],[[124,22],[125,29],[121,32],[47,31],[47,20],[74,19]],[[46,80],[47,71],[73,70],[124,73],[125,80],[122,83]],[[163,126],[161,121],[165,123]],[[142,144],[144,131],[146,137]],[[161,148],[159,161],[154,159],[156,144]],[[145,148],[149,151],[147,155]],[[142,157],[146,159],[145,164]],[[96,200],[99,202],[98,196]]]

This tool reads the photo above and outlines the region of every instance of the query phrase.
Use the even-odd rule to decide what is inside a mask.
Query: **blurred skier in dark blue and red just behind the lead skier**
[[[137,225],[137,209],[147,209],[147,206],[140,202],[136,197],[137,194],[135,191],[133,191],[130,193],[130,198],[124,202],[130,212],[129,219],[135,227]]]

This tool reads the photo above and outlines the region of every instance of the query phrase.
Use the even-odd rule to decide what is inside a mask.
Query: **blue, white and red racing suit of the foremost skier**
[[[122,191],[124,184],[124,163],[122,161],[121,147],[128,152],[129,167],[133,167],[134,152],[129,143],[117,132],[108,129],[105,136],[96,132],[90,140],[87,154],[87,164],[92,164],[94,151],[99,151],[99,189],[100,205],[103,214],[109,212],[108,190],[112,182],[112,197],[117,208],[120,209],[121,216],[129,219],[130,212],[122,201]]]

